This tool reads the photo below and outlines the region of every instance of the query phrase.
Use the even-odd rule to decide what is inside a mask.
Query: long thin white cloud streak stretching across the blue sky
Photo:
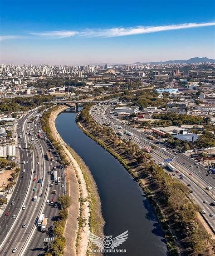
[[[44,37],[47,39],[62,39],[71,36],[83,36],[83,37],[116,37],[125,35],[140,35],[147,33],[156,33],[167,30],[181,30],[214,26],[215,22],[207,23],[184,23],[178,25],[164,25],[164,26],[137,26],[137,27],[116,27],[110,29],[86,29],[86,30],[56,30],[56,31],[43,31],[43,32],[31,32],[31,36]],[[24,38],[19,35],[2,35],[0,40],[18,39]],[[32,37],[31,37],[32,38]]]

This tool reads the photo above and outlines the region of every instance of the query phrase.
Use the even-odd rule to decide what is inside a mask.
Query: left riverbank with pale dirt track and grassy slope
[[[66,169],[67,190],[72,198],[72,205],[68,209],[64,232],[67,237],[64,255],[87,255],[89,231],[103,235],[104,221],[97,187],[88,167],[75,151],[66,145],[55,127],[56,117],[67,108],[59,107],[51,113],[49,119],[53,137],[63,147],[71,163]]]

